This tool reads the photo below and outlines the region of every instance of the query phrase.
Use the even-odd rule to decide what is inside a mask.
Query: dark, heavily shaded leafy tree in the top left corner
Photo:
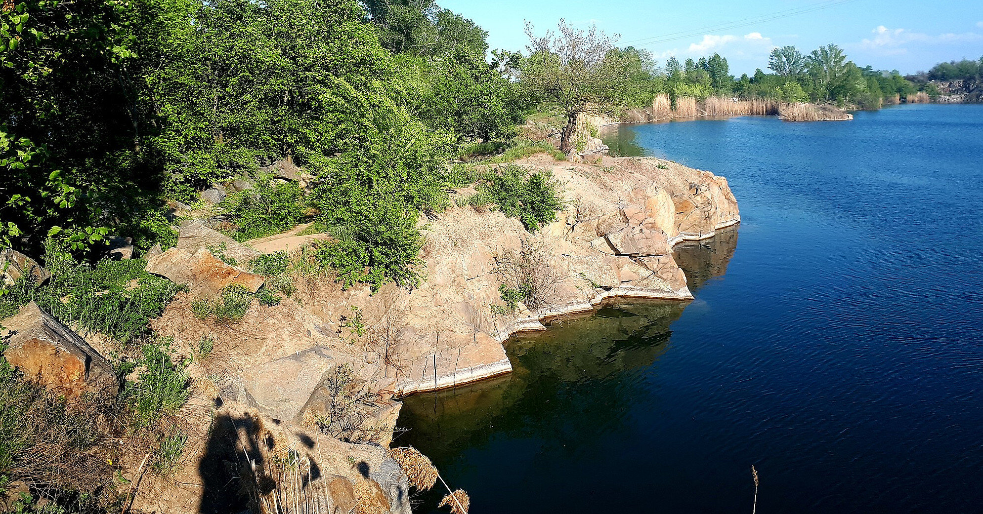
[[[105,207],[147,188],[127,9],[25,0],[0,10],[0,246],[36,255],[51,235],[84,250],[106,234]]]

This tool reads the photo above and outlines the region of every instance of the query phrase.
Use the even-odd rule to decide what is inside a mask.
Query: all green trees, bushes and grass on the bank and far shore
[[[102,337],[122,384],[70,405],[0,355],[0,496],[22,482],[17,512],[125,511],[114,441],[154,473],[173,471],[186,370],[213,348],[203,338],[182,357],[153,333],[182,289],[144,257],[177,244],[187,212],[242,242],[301,223],[330,236],[299,257],[227,259],[266,286],[192,309],[234,324],[304,280],[418,287],[421,219],[455,203],[539,230],[563,208],[562,185],[515,161],[567,158],[583,143],[581,114],[616,118],[661,98],[879,108],[983,72],[983,60],[961,61],[906,79],[829,44],[778,48],[768,73],[734,77],[717,53],[656,62],[596,29],[527,31],[527,52],[490,49],[488,32],[434,0],[0,2],[0,250],[53,275],[0,282],[0,324],[35,302]],[[130,238],[137,258],[103,258],[111,237]],[[524,284],[511,298],[532,302]]]

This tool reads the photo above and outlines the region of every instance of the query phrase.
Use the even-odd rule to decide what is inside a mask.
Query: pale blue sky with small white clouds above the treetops
[[[580,28],[596,23],[621,35],[618,46],[651,50],[660,65],[719,52],[730,73],[766,69],[776,46],[808,53],[830,42],[859,66],[928,70],[940,61],[983,56],[983,0],[758,0],[734,2],[628,0],[437,0],[489,31],[492,48],[524,50],[523,20],[536,31],[560,18]]]

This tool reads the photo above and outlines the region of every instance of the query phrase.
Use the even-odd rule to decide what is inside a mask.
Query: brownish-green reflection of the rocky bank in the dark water
[[[674,257],[695,290],[723,276],[736,245],[736,228],[724,229],[677,246]],[[535,441],[544,452],[600,444],[603,433],[630,425],[633,404],[646,401],[640,375],[658,372],[653,365],[668,348],[669,326],[688,305],[620,301],[513,337],[505,344],[512,373],[405,398],[398,425],[410,430],[394,444],[412,444],[438,467],[493,439]],[[438,499],[431,491],[423,501]]]

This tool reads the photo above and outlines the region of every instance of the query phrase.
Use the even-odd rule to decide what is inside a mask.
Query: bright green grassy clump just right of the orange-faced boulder
[[[121,393],[122,401],[131,409],[130,426],[135,429],[177,414],[191,396],[186,363],[172,362],[169,340],[145,344],[141,351],[143,357],[137,364],[143,371],[136,381],[127,381]]]

